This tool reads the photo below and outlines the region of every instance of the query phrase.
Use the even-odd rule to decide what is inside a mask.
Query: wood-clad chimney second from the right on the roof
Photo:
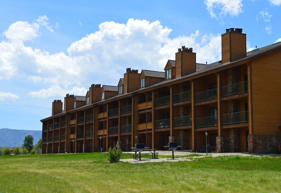
[[[196,53],[193,48],[181,46],[176,53],[176,78],[196,71]]]

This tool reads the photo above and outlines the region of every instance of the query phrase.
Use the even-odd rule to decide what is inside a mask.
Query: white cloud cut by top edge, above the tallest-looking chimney
[[[242,13],[242,0],[204,0],[207,10],[213,18],[223,18],[227,14],[237,16]],[[215,13],[218,10],[218,13]],[[218,15],[217,15],[218,14]]]

